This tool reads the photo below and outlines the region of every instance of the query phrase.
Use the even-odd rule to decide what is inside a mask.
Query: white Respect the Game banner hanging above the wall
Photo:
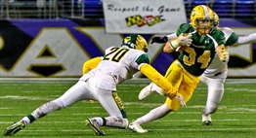
[[[187,22],[183,0],[104,0],[107,33],[164,34]]]

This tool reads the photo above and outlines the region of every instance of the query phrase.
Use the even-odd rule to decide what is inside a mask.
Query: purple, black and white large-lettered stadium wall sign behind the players
[[[103,19],[1,20],[0,77],[80,77],[84,61],[103,55],[110,46],[120,46],[127,35],[106,33],[104,23]],[[256,32],[254,24],[253,20],[221,20],[221,26],[232,27],[237,35]],[[143,36],[150,42],[154,34]],[[229,52],[230,78],[256,78],[256,43],[230,47]],[[162,52],[159,44],[149,45],[151,65],[161,74],[178,54]]]

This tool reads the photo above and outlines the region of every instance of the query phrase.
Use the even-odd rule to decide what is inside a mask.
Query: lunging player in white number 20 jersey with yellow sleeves
[[[121,47],[108,48],[102,59],[95,57],[88,60],[84,64],[87,66],[87,70],[83,69],[85,74],[62,96],[41,105],[31,114],[23,117],[21,121],[7,127],[4,130],[4,135],[14,135],[33,121],[69,107],[78,101],[90,99],[99,101],[109,115],[109,117],[95,117],[85,121],[96,135],[105,135],[100,126],[127,128],[128,120],[121,99],[116,93],[116,86],[132,79],[138,71],[162,87],[166,96],[177,98],[183,104],[183,97],[177,92],[177,89],[149,65],[149,56],[146,53],[148,48],[148,43],[143,36],[127,36]]]

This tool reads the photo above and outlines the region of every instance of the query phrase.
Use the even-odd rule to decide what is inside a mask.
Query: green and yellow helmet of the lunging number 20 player
[[[141,35],[131,34],[123,39],[122,46],[148,52],[149,45],[145,38]]]

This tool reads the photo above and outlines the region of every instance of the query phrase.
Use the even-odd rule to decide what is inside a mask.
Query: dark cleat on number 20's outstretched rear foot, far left
[[[5,130],[4,130],[4,135],[5,136],[12,136],[15,133],[19,132],[22,128],[25,127],[25,121],[18,121],[15,122],[14,124],[8,126]]]

